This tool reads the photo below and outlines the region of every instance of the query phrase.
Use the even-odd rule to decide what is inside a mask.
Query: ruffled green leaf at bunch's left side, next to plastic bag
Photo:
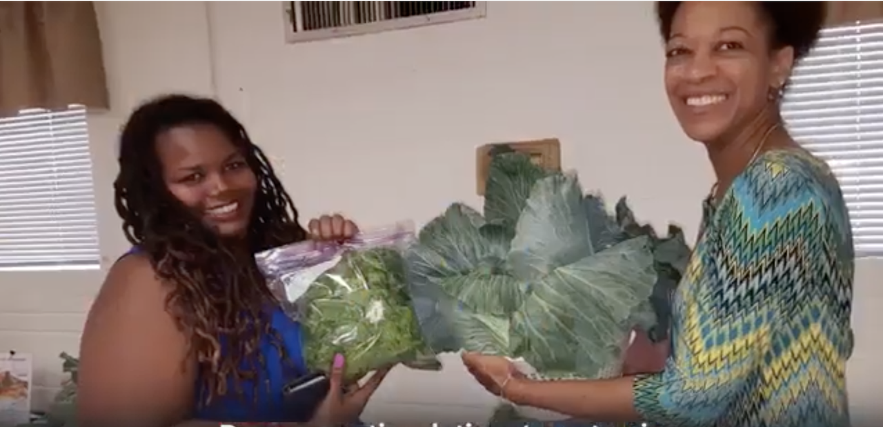
[[[504,316],[521,304],[523,287],[502,268],[509,236],[470,207],[455,204],[430,221],[406,251],[414,310],[436,352],[495,345],[481,334],[464,341],[464,328],[476,327],[464,323],[472,312],[464,309]]]

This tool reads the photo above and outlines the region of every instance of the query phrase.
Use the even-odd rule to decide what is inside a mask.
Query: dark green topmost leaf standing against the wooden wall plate
[[[485,218],[515,228],[533,184],[549,173],[520,153],[494,154],[485,183]]]

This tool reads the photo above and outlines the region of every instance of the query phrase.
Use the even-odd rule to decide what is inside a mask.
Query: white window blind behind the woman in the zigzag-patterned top
[[[857,256],[883,256],[883,23],[824,30],[795,69],[782,116],[839,178]]]

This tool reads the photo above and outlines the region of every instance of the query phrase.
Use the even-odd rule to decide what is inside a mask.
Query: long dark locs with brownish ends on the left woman
[[[156,138],[192,124],[223,131],[257,176],[247,248],[241,239],[233,243],[204,226],[163,182]],[[126,238],[170,284],[166,306],[198,362],[200,404],[225,395],[228,381],[240,395],[244,382],[258,386],[257,374],[265,364],[259,351],[262,336],[273,337],[280,356],[289,360],[270,327],[267,308],[273,295],[253,254],[302,241],[306,231],[267,157],[230,112],[216,101],[181,94],[142,104],[122,132],[114,192]]]

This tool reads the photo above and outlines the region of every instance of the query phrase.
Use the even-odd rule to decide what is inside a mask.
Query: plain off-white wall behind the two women
[[[697,232],[712,174],[669,113],[650,4],[492,3],[487,19],[300,45],[284,44],[277,2],[96,5],[113,101],[91,123],[105,265],[127,249],[111,202],[118,128],[139,101],[169,91],[214,94],[233,110],[307,217],[341,212],[370,227],[423,222],[454,200],[480,206],[476,146],[556,137],[584,184],[628,194],[660,229]],[[883,349],[872,342],[880,273],[881,260],[857,269],[857,411],[883,393],[871,373]],[[41,405],[101,281],[0,273],[0,348],[34,353]],[[394,371],[366,418],[483,421],[494,399],[462,366],[446,369]]]

